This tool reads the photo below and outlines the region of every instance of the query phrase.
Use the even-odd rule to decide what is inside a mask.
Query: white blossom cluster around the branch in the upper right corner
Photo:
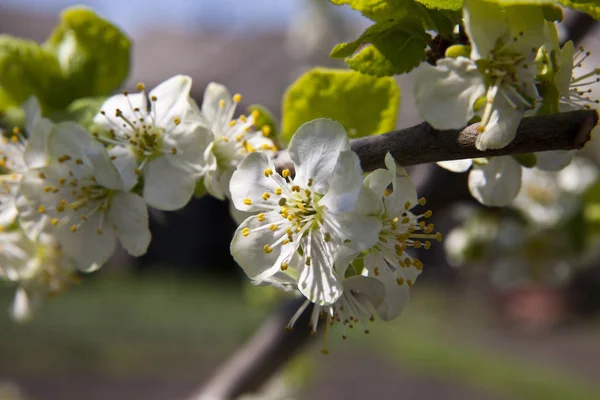
[[[460,129],[479,122],[476,146],[500,149],[515,138],[524,116],[589,108],[590,85],[600,70],[576,74],[589,55],[562,47],[554,22],[543,7],[499,6],[465,0],[463,25],[468,45],[454,45],[435,66],[423,65],[415,98],[421,116],[436,129]],[[571,151],[530,155],[538,169],[557,171],[569,164]],[[518,157],[479,158],[438,163],[469,174],[469,190],[490,206],[510,204],[519,193],[522,162]],[[531,165],[528,165],[531,166]]]

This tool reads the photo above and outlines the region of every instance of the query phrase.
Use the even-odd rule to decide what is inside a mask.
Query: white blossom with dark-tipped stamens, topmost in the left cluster
[[[96,138],[112,146],[111,157],[130,190],[143,177],[144,200],[159,210],[176,210],[192,197],[196,174],[204,170],[203,154],[210,143],[190,97],[192,79],[176,75],[161,83],[148,98],[124,92],[109,98],[94,118],[108,131]]]

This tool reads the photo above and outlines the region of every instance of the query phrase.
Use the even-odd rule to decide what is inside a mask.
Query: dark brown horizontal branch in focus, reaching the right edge
[[[582,148],[590,140],[590,133],[598,123],[595,110],[578,110],[554,115],[524,118],[515,139],[498,150],[480,151],[475,147],[477,127],[473,124],[463,130],[438,131],[423,122],[411,128],[383,135],[351,141],[363,170],[382,168],[389,151],[403,166],[463,158],[504,156],[550,150]],[[275,159],[278,170],[293,169],[287,152],[279,152]]]

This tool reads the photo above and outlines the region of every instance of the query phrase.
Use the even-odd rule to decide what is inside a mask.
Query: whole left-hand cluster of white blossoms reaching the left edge
[[[15,282],[16,319],[46,295],[101,267],[119,243],[132,256],[150,243],[148,206],[177,210],[199,185],[229,197],[229,179],[249,153],[275,150],[254,126],[234,118],[239,94],[211,83],[202,108],[191,78],[174,76],[148,94],[109,98],[95,129],[42,117],[24,105],[24,132],[0,143],[0,278]]]

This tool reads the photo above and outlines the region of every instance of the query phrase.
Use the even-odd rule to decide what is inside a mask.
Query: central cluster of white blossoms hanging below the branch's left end
[[[358,156],[337,122],[317,119],[292,137],[294,173],[276,172],[264,153],[250,154],[233,173],[233,204],[254,215],[243,221],[231,254],[255,284],[298,290],[313,304],[311,326],[366,323],[399,315],[423,264],[406,250],[441,240],[404,169],[388,153],[385,169],[363,178]],[[389,189],[388,189],[389,187]]]

